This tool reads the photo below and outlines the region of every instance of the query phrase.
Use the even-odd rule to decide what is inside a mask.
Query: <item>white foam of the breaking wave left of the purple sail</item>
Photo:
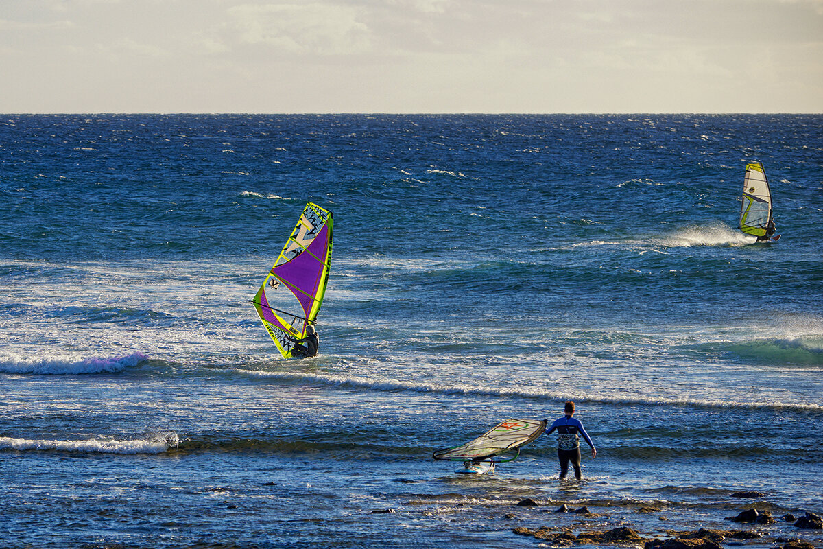
[[[26,358],[13,352],[0,352],[0,372],[6,374],[81,375],[119,372],[136,366],[148,357],[142,352],[128,356],[77,356],[58,355]]]

